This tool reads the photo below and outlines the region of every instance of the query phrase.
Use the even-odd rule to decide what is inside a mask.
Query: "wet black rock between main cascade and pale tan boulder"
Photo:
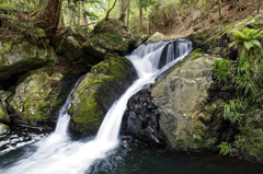
[[[148,144],[164,147],[159,118],[160,112],[152,103],[151,89],[141,90],[128,101],[123,116],[122,132],[133,135]]]

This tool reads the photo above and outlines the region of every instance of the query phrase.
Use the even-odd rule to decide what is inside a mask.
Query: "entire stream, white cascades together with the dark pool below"
[[[61,107],[56,130],[0,155],[1,174],[159,174],[262,173],[263,166],[207,154],[168,154],[132,137],[119,136],[128,100],[192,50],[186,39],[141,45],[127,58],[138,79],[113,103],[95,137],[73,139],[68,132],[70,94]],[[78,85],[78,82],[76,83]]]

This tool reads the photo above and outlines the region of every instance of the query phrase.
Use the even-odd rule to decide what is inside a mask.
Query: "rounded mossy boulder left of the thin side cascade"
[[[47,126],[52,115],[62,102],[62,73],[52,66],[30,71],[15,88],[9,100],[14,123],[28,126]],[[54,116],[54,115],[53,115]]]

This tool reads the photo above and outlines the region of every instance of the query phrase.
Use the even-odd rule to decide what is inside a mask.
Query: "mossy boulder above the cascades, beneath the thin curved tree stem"
[[[93,57],[103,60],[106,53],[128,51],[134,37],[128,26],[117,20],[101,21],[96,24],[83,48]]]

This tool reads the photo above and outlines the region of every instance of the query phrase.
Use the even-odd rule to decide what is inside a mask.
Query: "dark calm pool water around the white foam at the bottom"
[[[1,154],[0,169],[35,150],[34,144],[27,144]],[[95,161],[87,174],[263,174],[263,165],[211,153],[168,153],[123,137],[119,147]]]

